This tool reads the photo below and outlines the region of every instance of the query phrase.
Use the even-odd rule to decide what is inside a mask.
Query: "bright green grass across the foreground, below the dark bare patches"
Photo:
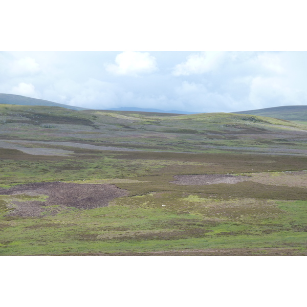
[[[193,203],[194,196],[189,197]],[[194,213],[130,202],[128,206],[71,209],[42,218],[3,217],[0,253],[133,254],[186,249],[291,248],[294,252],[290,254],[299,254],[306,249],[307,202],[270,202],[267,206],[271,215],[265,213],[266,207],[262,207],[262,212],[251,213],[242,206],[240,218],[225,214],[213,218],[211,214],[199,213],[200,203],[194,202]]]

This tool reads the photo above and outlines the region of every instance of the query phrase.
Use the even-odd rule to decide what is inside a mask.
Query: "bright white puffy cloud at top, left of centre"
[[[156,58],[148,52],[125,51],[115,58],[116,64],[105,64],[105,69],[115,75],[137,76],[158,70]]]

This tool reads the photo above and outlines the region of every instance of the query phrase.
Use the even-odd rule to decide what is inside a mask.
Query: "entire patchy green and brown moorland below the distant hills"
[[[0,104],[0,254],[306,255],[306,139],[255,115]]]

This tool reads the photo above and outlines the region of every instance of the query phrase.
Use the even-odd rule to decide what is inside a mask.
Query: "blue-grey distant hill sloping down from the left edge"
[[[46,106],[61,106],[72,110],[86,110],[87,108],[72,106],[67,104],[56,103],[43,99],[36,99],[26,96],[13,95],[13,94],[0,94],[0,103],[5,104],[18,104],[18,105],[46,105]]]

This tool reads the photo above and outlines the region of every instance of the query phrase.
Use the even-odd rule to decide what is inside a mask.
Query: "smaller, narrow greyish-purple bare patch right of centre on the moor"
[[[218,183],[234,184],[241,181],[246,181],[248,176],[233,176],[233,175],[178,175],[174,176],[176,181],[170,181],[170,183],[180,185],[208,185]]]

